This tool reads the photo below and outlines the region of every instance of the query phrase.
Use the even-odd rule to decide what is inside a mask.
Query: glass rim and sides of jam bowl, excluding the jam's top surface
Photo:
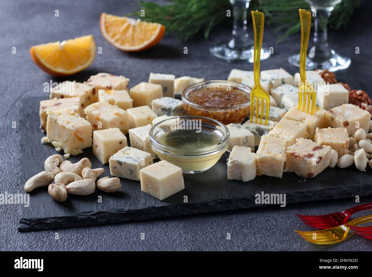
[[[195,90],[199,90],[201,88],[208,87],[208,88],[238,88],[243,93],[246,93],[248,96],[248,100],[244,103],[237,104],[234,106],[226,106],[226,107],[210,107],[210,106],[203,106],[192,102],[190,100],[190,93]],[[235,82],[235,81],[225,81],[225,80],[209,80],[209,81],[202,81],[200,83],[192,84],[191,86],[186,87],[182,91],[182,102],[183,107],[189,115],[192,116],[204,116],[209,117],[215,120],[218,120],[224,124],[230,123],[241,123],[247,115],[250,113],[250,87]]]

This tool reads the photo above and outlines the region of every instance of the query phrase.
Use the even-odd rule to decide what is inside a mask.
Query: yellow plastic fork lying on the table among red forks
[[[302,232],[295,230],[295,232],[297,232],[300,236],[302,236],[302,238],[305,239],[305,241],[308,242],[315,244],[336,244],[346,239],[347,233],[350,230],[348,225],[356,226],[370,221],[372,221],[372,215],[353,219],[343,225],[319,231]]]

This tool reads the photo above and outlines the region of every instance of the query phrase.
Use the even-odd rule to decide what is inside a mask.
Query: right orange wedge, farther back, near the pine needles
[[[102,13],[100,26],[103,37],[116,48],[127,52],[140,52],[158,44],[165,27],[151,23]]]

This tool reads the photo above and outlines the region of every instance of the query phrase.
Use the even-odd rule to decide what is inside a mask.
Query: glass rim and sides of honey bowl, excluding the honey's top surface
[[[193,126],[192,122],[196,121],[198,122],[197,128],[186,127]],[[182,124],[187,125],[182,127]],[[211,132],[214,136],[218,136],[219,141],[211,146],[189,149],[168,146],[160,142],[164,135],[169,135],[169,132],[175,131],[182,131],[183,134],[186,133],[187,135],[196,135],[198,131]],[[186,174],[200,173],[215,165],[227,150],[230,138],[230,132],[223,123],[201,116],[178,116],[165,119],[156,123],[150,129],[149,135],[151,148],[160,160],[177,165]]]

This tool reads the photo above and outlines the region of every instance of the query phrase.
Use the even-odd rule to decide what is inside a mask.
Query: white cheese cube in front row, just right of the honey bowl
[[[249,147],[234,146],[227,162],[228,180],[247,182],[256,178],[256,174],[256,153],[252,153]]]

